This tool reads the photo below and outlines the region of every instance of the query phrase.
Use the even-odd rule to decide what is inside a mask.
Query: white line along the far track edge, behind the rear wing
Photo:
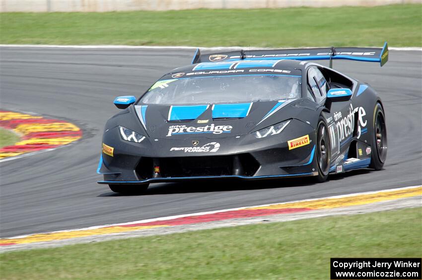
[[[262,47],[193,47],[193,46],[128,46],[128,45],[8,45],[0,44],[0,47],[6,48],[60,48],[60,49],[176,49],[176,50],[196,50],[201,49],[205,51],[212,50],[275,50],[275,48]],[[283,49],[310,49],[321,47],[282,47]],[[366,47],[362,47],[366,48]],[[369,47],[378,48],[378,47]],[[421,47],[388,47],[392,51],[422,51]]]

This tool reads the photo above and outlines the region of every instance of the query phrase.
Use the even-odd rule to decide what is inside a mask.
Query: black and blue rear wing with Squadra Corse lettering
[[[264,59],[297,59],[297,60],[330,60],[349,59],[357,61],[379,62],[384,65],[388,60],[388,45],[383,48],[311,48],[311,49],[285,49],[285,50],[256,50],[232,51],[202,55],[197,49],[192,64],[200,62],[232,61],[239,59],[264,60]]]

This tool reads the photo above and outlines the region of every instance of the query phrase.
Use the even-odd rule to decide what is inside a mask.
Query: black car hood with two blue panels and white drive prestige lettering
[[[305,99],[194,106],[136,105],[141,125],[151,138],[210,139],[257,131],[290,118],[306,121],[315,105]]]

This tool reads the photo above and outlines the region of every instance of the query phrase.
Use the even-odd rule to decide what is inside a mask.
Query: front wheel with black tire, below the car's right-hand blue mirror
[[[318,175],[315,181],[322,183],[327,180],[331,164],[331,143],[328,128],[322,116],[318,120],[316,154],[318,163]]]

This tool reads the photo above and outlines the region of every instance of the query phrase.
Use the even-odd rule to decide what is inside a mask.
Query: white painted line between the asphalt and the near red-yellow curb
[[[236,211],[236,210],[243,210],[243,209],[247,209],[247,208],[268,207],[268,206],[272,206],[272,205],[280,205],[280,204],[296,203],[296,202],[305,202],[305,201],[315,201],[315,200],[321,200],[321,199],[336,199],[336,198],[357,196],[357,195],[361,195],[361,194],[375,194],[375,193],[380,193],[380,192],[390,192],[390,191],[405,190],[405,189],[412,189],[412,188],[419,188],[419,187],[421,187],[421,186],[420,185],[417,185],[417,186],[401,187],[401,188],[394,188],[394,189],[385,189],[385,190],[378,190],[378,191],[369,191],[369,192],[358,192],[358,193],[352,193],[352,194],[343,194],[343,195],[336,195],[336,196],[329,196],[329,197],[321,197],[321,198],[312,198],[312,199],[304,199],[304,200],[294,200],[294,201],[281,202],[281,203],[271,203],[271,204],[255,205],[255,206],[245,206],[245,207],[238,207],[238,208],[229,208],[229,209],[222,209],[222,210],[214,210],[214,211],[207,211],[207,212],[198,212],[198,213],[192,213],[192,214],[184,214],[184,215],[176,215],[176,216],[168,216],[168,217],[160,217],[160,218],[139,220],[139,221],[133,221],[133,222],[119,223],[119,224],[103,224],[103,225],[94,225],[94,226],[82,227],[82,228],[73,228],[73,229],[66,229],[66,230],[51,231],[51,232],[31,233],[31,234],[19,235],[19,236],[14,236],[14,237],[7,237],[7,238],[4,238],[4,239],[23,238],[23,237],[27,237],[27,236],[34,235],[34,234],[44,234],[44,233],[56,233],[56,232],[76,231],[76,230],[97,229],[97,228],[102,228],[102,227],[106,227],[106,226],[108,227],[108,226],[119,226],[119,225],[126,225],[126,224],[141,224],[141,223],[143,224],[143,223],[150,223],[150,222],[156,222],[156,221],[167,221],[167,220],[173,220],[173,219],[177,219],[177,218],[200,216],[200,215],[207,215],[207,214],[214,214],[214,213],[228,212],[228,211]]]

